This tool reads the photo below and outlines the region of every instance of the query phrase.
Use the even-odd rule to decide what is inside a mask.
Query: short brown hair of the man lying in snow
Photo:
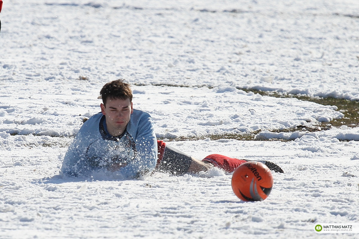
[[[125,79],[118,79],[116,81],[108,82],[102,87],[100,95],[105,106],[107,99],[130,99],[130,102],[132,102],[131,87],[124,81]]]

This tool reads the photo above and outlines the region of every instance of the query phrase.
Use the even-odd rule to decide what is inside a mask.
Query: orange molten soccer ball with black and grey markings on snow
[[[270,169],[260,162],[241,164],[233,173],[232,189],[243,201],[265,200],[273,186],[273,175]]]

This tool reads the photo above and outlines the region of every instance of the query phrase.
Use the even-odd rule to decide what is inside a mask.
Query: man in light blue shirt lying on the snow
[[[199,161],[157,140],[151,116],[133,108],[130,85],[123,80],[106,83],[100,91],[101,113],[81,126],[62,164],[68,176],[88,176],[106,169],[136,178],[154,171],[182,175],[207,171],[215,166],[233,172],[247,160],[211,154]],[[271,170],[276,164],[262,161]]]

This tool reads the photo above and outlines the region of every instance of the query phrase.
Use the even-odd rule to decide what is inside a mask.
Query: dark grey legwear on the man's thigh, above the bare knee
[[[171,173],[173,175],[183,175],[188,172],[191,161],[191,156],[166,144],[163,159],[159,163],[156,171],[161,173]]]

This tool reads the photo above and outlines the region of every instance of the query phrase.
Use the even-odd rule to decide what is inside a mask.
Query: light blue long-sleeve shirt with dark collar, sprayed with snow
[[[148,113],[134,110],[125,132],[118,137],[108,134],[102,113],[93,115],[70,144],[61,171],[68,176],[89,176],[114,162],[121,165],[118,173],[123,177],[138,177],[154,170],[157,138]]]

